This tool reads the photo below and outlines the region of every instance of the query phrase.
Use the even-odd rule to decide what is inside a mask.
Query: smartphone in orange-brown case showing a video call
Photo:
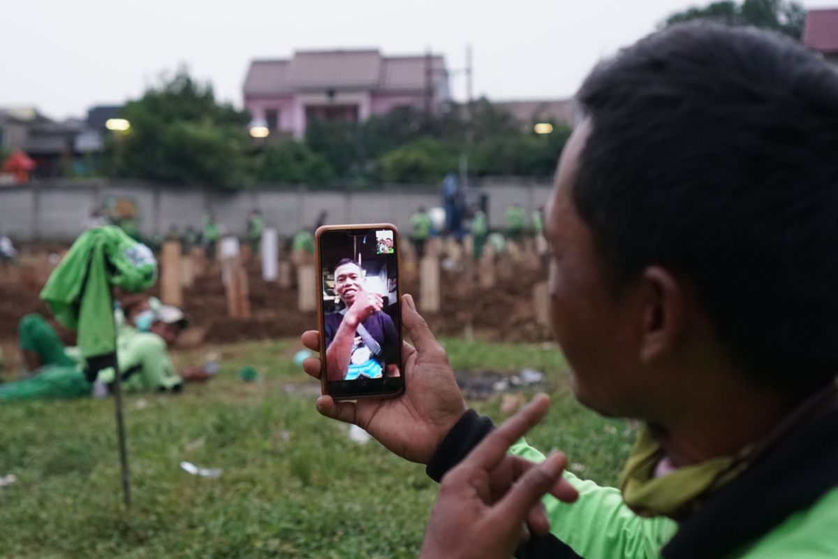
[[[323,394],[398,396],[405,377],[396,226],[324,225],[314,241]]]

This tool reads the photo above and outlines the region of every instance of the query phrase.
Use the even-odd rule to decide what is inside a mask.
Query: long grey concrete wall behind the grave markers
[[[547,184],[524,184],[515,179],[486,180],[479,189],[488,194],[489,223],[493,227],[503,227],[504,210],[511,204],[521,204],[530,214],[550,194]],[[328,212],[329,224],[389,221],[409,231],[416,208],[441,205],[438,189],[427,187],[365,192],[255,189],[220,194],[130,181],[54,181],[0,187],[0,231],[14,241],[72,241],[83,230],[91,210],[108,195],[136,204],[138,225],[145,235],[165,233],[170,225],[181,231],[187,225],[200,227],[207,208],[220,224],[240,236],[245,234],[247,214],[253,208],[259,208],[266,224],[282,236],[312,226],[323,210]]]

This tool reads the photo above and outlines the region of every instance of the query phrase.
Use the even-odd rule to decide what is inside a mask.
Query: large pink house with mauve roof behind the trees
[[[289,60],[253,60],[244,93],[255,122],[297,138],[312,118],[360,122],[395,106],[437,111],[449,99],[442,56],[382,56],[378,50],[298,51]]]

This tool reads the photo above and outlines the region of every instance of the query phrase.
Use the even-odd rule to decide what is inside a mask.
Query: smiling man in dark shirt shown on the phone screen
[[[364,272],[349,258],[334,268],[334,292],[344,308],[323,320],[328,380],[399,376],[399,334],[381,308],[384,299],[366,289]]]

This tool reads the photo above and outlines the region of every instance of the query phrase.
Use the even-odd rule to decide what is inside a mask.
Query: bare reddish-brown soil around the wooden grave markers
[[[551,339],[550,329],[535,322],[532,290],[536,282],[546,279],[544,266],[537,258],[517,263],[500,259],[497,282],[491,288],[478,285],[476,272],[468,287],[462,265],[453,261],[444,264],[442,311],[423,313],[435,334],[463,336],[470,332],[481,339],[524,342]],[[18,321],[24,314],[40,313],[66,344],[75,344],[75,333],[55,323],[38,298],[50,269],[45,255],[0,268],[0,341],[16,339]],[[246,320],[227,318],[225,289],[217,266],[210,266],[204,275],[195,278],[192,287],[184,289],[184,312],[194,327],[187,331],[191,335],[184,337],[191,344],[284,338],[317,328],[314,313],[297,310],[295,288],[282,289],[277,283],[264,282],[255,260],[251,259],[246,269],[251,306],[251,318]],[[402,291],[418,300],[418,281],[403,277]],[[148,292],[158,295],[159,287]]]

